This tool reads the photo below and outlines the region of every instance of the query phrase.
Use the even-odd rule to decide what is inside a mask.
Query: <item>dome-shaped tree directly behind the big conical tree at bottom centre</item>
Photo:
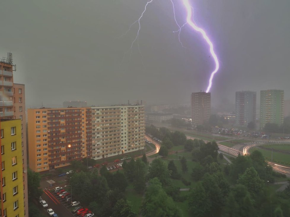
[[[160,158],[154,159],[149,165],[147,180],[157,177],[162,186],[171,184],[170,172]]]

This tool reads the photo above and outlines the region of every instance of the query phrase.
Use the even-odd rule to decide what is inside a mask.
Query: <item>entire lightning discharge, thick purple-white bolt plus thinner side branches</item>
[[[141,29],[140,20],[141,20],[141,18],[143,17],[143,14],[145,13],[148,4],[150,4],[152,1],[153,1],[153,0],[147,1],[146,5],[145,5],[145,9],[144,9],[144,11],[142,12],[141,16],[139,17],[139,19],[136,20],[135,22],[133,22],[133,23],[130,25],[130,27],[129,27],[129,29],[127,30],[126,33],[124,33],[123,35],[121,35],[121,37],[124,36],[124,35],[126,35],[126,34],[130,31],[131,27],[132,27],[136,22],[138,22],[138,24],[139,24],[139,28],[138,28],[138,31],[137,31],[136,37],[135,37],[135,39],[133,40],[130,49],[129,49],[127,52],[125,52],[125,54],[126,54],[126,53],[128,53],[129,51],[131,51],[131,53],[130,53],[130,58],[131,58],[131,55],[132,55],[132,48],[133,48],[133,45],[134,45],[134,43],[137,41],[137,44],[138,44],[138,51],[139,51],[139,53],[140,53],[140,55],[141,55],[141,57],[142,57],[142,59],[143,59],[143,56],[142,56],[141,51],[140,51],[140,46],[139,46],[139,32],[140,32],[140,29]],[[214,50],[213,50],[213,43],[212,43],[211,40],[208,38],[208,36],[207,36],[207,34],[205,33],[205,31],[204,31],[202,28],[198,27],[198,26],[195,24],[195,22],[194,22],[194,20],[193,20],[193,12],[194,12],[194,9],[193,9],[193,7],[189,4],[189,0],[181,0],[181,1],[183,2],[183,4],[184,4],[184,7],[186,8],[186,11],[187,11],[187,19],[186,19],[187,22],[185,22],[183,25],[179,25],[179,24],[178,24],[178,22],[177,22],[177,20],[176,20],[175,7],[174,7],[173,0],[170,0],[170,1],[171,1],[171,3],[172,3],[172,6],[173,6],[174,20],[175,20],[175,22],[176,22],[176,25],[177,25],[178,28],[179,28],[177,31],[173,31],[173,33],[178,33],[178,40],[179,40],[179,43],[181,44],[181,46],[184,48],[184,46],[183,46],[183,44],[182,44],[182,42],[181,42],[181,40],[180,40],[180,33],[181,33],[182,28],[183,28],[186,24],[188,24],[189,26],[191,26],[195,31],[201,33],[201,35],[203,36],[204,40],[205,40],[206,43],[209,45],[209,48],[210,48],[209,51],[210,51],[211,56],[213,57],[213,60],[214,60],[214,62],[215,62],[215,69],[214,69],[213,72],[211,73],[211,76],[210,76],[210,79],[209,79],[209,82],[208,82],[208,87],[207,87],[207,90],[206,90],[206,93],[208,93],[209,90],[211,89],[213,76],[214,76],[214,74],[219,70],[219,60],[218,60],[218,58],[217,58],[217,56],[216,56],[216,54],[215,54],[215,52],[214,52]],[[125,56],[125,54],[124,54],[124,56]],[[124,60],[124,56],[123,56],[123,60]],[[142,59],[141,59],[141,61],[142,61]],[[122,60],[122,62],[123,62],[123,60]],[[142,61],[142,64],[143,64],[143,61]],[[143,65],[144,65],[144,64],[143,64]]]

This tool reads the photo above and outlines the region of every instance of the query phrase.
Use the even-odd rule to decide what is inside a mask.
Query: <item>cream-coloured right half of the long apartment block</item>
[[[93,159],[144,149],[144,106],[91,107],[91,112]]]

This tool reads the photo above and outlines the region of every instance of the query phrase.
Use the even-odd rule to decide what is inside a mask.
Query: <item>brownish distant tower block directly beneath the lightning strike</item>
[[[204,124],[211,116],[211,93],[197,92],[191,94],[192,124]]]

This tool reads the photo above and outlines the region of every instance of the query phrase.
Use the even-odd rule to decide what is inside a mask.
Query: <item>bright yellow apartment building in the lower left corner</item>
[[[24,191],[27,186],[23,184],[23,152],[21,147],[21,120],[20,119],[1,119],[1,207],[0,216],[25,216]],[[27,190],[26,190],[27,192]]]

